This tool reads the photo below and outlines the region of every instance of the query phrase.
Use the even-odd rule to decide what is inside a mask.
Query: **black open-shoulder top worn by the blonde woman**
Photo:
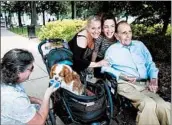
[[[77,45],[77,37],[86,37],[76,34],[72,40],[69,41],[69,47],[73,52],[73,70],[80,73],[86,69],[91,63],[92,50],[88,47],[81,48]]]

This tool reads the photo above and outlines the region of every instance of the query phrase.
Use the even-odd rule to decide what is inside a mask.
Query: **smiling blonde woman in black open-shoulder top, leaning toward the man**
[[[80,71],[88,67],[107,66],[106,60],[99,62],[91,62],[91,55],[94,49],[94,40],[99,37],[101,33],[101,21],[98,16],[92,16],[87,21],[85,29],[77,33],[71,41],[69,47],[73,52],[73,69],[80,73]]]

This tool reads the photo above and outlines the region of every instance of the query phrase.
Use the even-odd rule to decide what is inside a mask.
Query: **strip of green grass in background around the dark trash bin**
[[[36,32],[36,36],[38,36],[38,33],[40,31],[41,27],[35,27],[35,32]],[[11,32],[14,32],[16,34],[22,35],[24,37],[28,37],[28,31],[27,31],[27,27],[13,27],[13,28],[9,28],[9,30]]]

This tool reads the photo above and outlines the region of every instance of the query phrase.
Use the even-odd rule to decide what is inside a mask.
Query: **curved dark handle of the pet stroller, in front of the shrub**
[[[57,41],[60,41],[61,43],[64,43],[64,42],[65,42],[65,40],[60,39],[60,38],[44,39],[44,40],[42,40],[42,41],[40,42],[40,44],[38,45],[38,51],[39,51],[39,53],[41,54],[41,56],[43,57],[43,51],[42,51],[42,49],[41,49],[42,45],[44,45],[44,44],[46,44],[46,43],[48,43],[48,42],[50,42],[50,43],[55,43],[55,42],[57,42]]]

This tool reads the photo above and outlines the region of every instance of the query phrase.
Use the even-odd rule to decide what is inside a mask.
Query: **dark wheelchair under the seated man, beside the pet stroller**
[[[131,104],[131,101],[117,93],[117,81],[116,78],[110,73],[104,73],[104,81],[108,84],[108,87],[113,95],[114,102],[114,116],[113,119],[118,125],[135,125],[135,123],[128,123],[128,117],[126,111],[130,110],[134,117],[136,116],[137,109]],[[121,120],[119,120],[119,117]],[[121,123],[122,121],[122,123]],[[134,120],[135,121],[135,120]]]

